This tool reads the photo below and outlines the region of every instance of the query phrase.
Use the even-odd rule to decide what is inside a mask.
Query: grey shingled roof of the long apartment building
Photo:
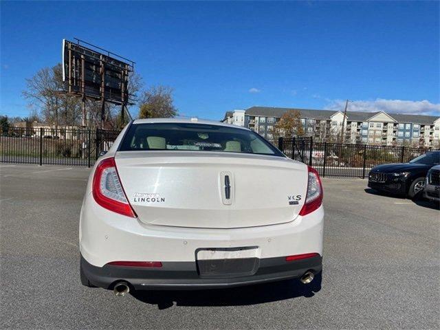
[[[281,117],[283,113],[288,110],[300,111],[301,116],[304,118],[314,118],[317,120],[328,120],[331,115],[338,113],[338,110],[315,110],[315,109],[296,109],[296,108],[274,108],[274,107],[250,107],[246,109],[247,115],[262,115],[265,117]],[[377,112],[362,112],[362,111],[347,111],[347,119],[349,121],[363,122],[369,118],[381,113]],[[395,119],[397,122],[415,122],[417,124],[432,124],[434,120],[439,119],[439,116],[435,115],[407,115],[402,113],[386,113]],[[225,118],[232,115],[232,111],[225,113]]]

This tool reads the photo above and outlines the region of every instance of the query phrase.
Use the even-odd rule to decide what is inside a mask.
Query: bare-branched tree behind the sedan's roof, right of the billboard
[[[153,86],[144,91],[140,101],[139,118],[170,118],[177,115],[173,104],[173,89]]]

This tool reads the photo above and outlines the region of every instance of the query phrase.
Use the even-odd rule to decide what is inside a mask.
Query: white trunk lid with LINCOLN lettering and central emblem
[[[191,151],[122,151],[122,186],[140,221],[243,228],[293,221],[307,166],[285,157]]]

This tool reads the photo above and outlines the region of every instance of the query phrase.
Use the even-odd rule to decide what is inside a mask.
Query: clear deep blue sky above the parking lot
[[[253,105],[440,115],[439,2],[1,1],[0,114],[75,36],[175,90],[182,115]],[[136,109],[131,110],[136,113]]]

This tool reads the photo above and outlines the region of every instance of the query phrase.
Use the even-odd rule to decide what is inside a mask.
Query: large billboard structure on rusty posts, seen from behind
[[[124,112],[129,114],[126,107],[133,104],[133,95],[129,94],[129,74],[135,63],[85,41],[75,40],[74,43],[63,39],[63,82],[67,94],[83,100],[83,126],[86,126],[86,99],[102,102],[101,126],[106,102],[121,106],[124,122]]]

